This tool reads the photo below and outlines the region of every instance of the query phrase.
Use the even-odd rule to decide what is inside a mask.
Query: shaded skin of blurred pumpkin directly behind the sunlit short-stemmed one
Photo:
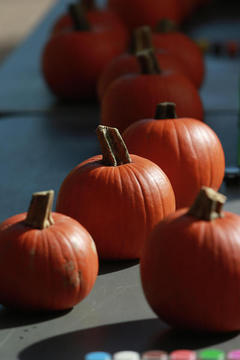
[[[126,75],[115,80],[102,99],[101,124],[124,131],[130,124],[153,118],[158,103],[176,103],[179,117],[203,119],[203,106],[195,86],[184,75],[163,72]]]

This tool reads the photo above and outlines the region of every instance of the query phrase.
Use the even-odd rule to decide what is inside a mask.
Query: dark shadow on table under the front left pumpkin
[[[72,309],[48,312],[29,312],[0,305],[0,329],[11,329],[19,326],[37,324],[56,319],[69,313]]]

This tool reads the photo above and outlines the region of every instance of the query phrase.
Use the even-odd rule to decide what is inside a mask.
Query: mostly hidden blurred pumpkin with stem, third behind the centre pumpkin
[[[101,100],[106,89],[117,78],[126,74],[136,74],[141,72],[140,64],[137,60],[137,53],[144,49],[153,49],[152,33],[148,26],[142,26],[133,33],[132,41],[133,53],[124,53],[114,58],[103,70],[99,77],[97,90],[98,97]],[[155,51],[156,58],[162,70],[179,72],[188,76],[185,65],[175,56],[168,54],[166,50]]]

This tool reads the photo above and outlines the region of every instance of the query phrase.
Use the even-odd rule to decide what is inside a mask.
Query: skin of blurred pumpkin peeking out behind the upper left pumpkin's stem
[[[127,49],[129,42],[128,30],[117,14],[107,10],[94,10],[88,11],[86,17],[90,24],[111,31],[113,41],[115,41],[119,47],[119,54]],[[73,21],[71,16],[64,14],[54,24],[52,34],[57,35],[72,28]]]

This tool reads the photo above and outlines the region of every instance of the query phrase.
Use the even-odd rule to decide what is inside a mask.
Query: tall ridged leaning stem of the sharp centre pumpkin
[[[116,128],[99,125],[97,136],[106,166],[119,166],[132,162],[128,149]]]

